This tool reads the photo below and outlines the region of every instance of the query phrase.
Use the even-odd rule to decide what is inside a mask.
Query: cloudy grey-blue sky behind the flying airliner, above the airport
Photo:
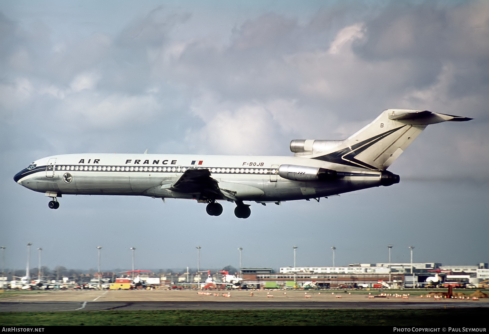
[[[489,262],[487,1],[0,2],[0,244],[5,266],[102,270]],[[48,198],[13,181],[65,153],[292,155],[383,109],[474,118],[430,125],[391,187],[252,204]]]

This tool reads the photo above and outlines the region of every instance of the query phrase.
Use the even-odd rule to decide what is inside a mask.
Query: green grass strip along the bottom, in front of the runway
[[[80,325],[386,325],[487,326],[487,309],[435,310],[184,310],[0,313],[3,326]]]

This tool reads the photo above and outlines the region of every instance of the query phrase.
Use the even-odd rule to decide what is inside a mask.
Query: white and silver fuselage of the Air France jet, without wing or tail
[[[331,168],[327,181],[289,180],[281,166]],[[382,185],[385,171],[353,168],[297,156],[223,156],[181,154],[64,154],[34,161],[14,180],[34,191],[83,195],[135,195],[198,198],[169,189],[189,169],[208,169],[219,188],[240,201],[279,202],[319,198]],[[384,184],[385,185],[385,184]],[[216,199],[226,199],[225,196]]]

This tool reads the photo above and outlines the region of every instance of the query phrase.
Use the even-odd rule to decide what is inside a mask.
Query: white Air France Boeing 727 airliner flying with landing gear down
[[[294,156],[180,154],[63,154],[34,161],[15,182],[51,197],[133,195],[188,198],[222,213],[220,200],[234,202],[238,218],[251,210],[244,201],[319,201],[349,191],[391,186],[399,175],[387,171],[430,124],[471,118],[422,110],[387,109],[345,140],[293,140]]]

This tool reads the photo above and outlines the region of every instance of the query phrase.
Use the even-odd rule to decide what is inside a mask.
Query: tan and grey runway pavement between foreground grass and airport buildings
[[[383,297],[317,291],[61,290],[0,299],[0,312],[97,310],[489,308],[489,300]],[[372,292],[377,294],[378,292]],[[227,296],[229,294],[229,296]]]

